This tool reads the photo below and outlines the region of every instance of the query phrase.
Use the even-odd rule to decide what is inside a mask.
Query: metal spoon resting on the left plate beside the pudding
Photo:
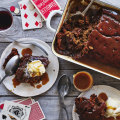
[[[18,68],[18,63],[19,63],[20,57],[18,55],[15,55],[14,57],[12,57],[8,63],[6,64],[5,67],[5,76],[2,78],[2,80],[0,81],[0,84],[3,82],[3,80],[8,77],[13,75],[17,68]]]

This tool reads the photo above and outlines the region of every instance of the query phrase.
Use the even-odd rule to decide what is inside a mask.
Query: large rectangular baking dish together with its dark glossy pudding
[[[71,32],[70,29],[72,29],[71,26],[72,26],[73,22],[70,22],[69,25],[66,24],[66,23],[68,23],[69,19],[70,19],[70,21],[73,21],[73,20],[75,21],[75,19],[77,19],[77,21],[75,21],[74,24],[77,24],[78,21],[80,21],[80,22],[82,21],[81,17],[79,17],[79,15],[74,16],[75,17],[74,19],[72,19],[72,17],[70,17],[72,12],[74,13],[74,8],[77,6],[77,8],[76,8],[77,10],[79,10],[79,9],[84,10],[89,4],[89,2],[88,2],[89,0],[79,0],[79,1],[78,0],[68,0],[66,8],[65,8],[63,16],[62,16],[62,19],[61,19],[60,24],[58,26],[55,38],[54,38],[53,43],[52,43],[53,53],[56,56],[58,56],[58,57],[60,57],[64,60],[67,60],[69,62],[87,67],[89,69],[95,70],[95,71],[103,73],[105,75],[120,79],[120,67],[119,67],[120,62],[118,61],[119,56],[120,56],[119,55],[120,47],[118,46],[119,43],[120,43],[120,32],[119,32],[120,31],[120,26],[119,26],[120,25],[120,14],[119,14],[120,13],[120,8],[119,8],[119,6],[115,6],[115,3],[112,4],[112,2],[110,2],[111,0],[109,0],[109,2],[106,1],[106,0],[104,0],[104,1],[103,0],[102,1],[100,1],[100,0],[94,1],[92,6],[90,7],[90,10],[92,10],[93,11],[92,13],[94,13],[97,10],[102,9],[102,13],[99,11],[99,12],[97,12],[97,14],[96,13],[93,14],[94,18],[91,19],[92,22],[90,20],[88,20],[89,22],[86,23],[86,21],[87,21],[86,19],[89,19],[89,13],[91,14],[90,10],[88,10],[89,11],[88,17],[84,17],[85,18],[85,21],[84,21],[85,23],[82,23],[84,26],[86,26],[86,24],[87,24],[87,29],[84,30],[84,28],[81,28],[81,26],[77,26],[77,28],[75,28]],[[103,10],[103,9],[105,9],[105,10]],[[112,12],[107,13],[109,10],[112,11]],[[116,14],[118,15],[117,17],[115,17]],[[106,15],[108,15],[108,16],[106,16]],[[86,16],[87,16],[87,14],[86,14]],[[110,20],[108,20],[109,18],[110,18]],[[94,19],[96,20],[95,22],[94,22]],[[115,19],[115,21],[114,21],[114,19]],[[104,20],[106,20],[105,23],[104,23]],[[67,26],[67,28],[69,30],[63,29],[65,25]],[[109,30],[108,30],[108,28],[105,28],[106,25],[109,26],[108,27]],[[102,26],[103,31],[101,30],[101,26]],[[115,29],[115,26],[116,26],[116,29]],[[94,28],[95,30],[91,29],[91,27]],[[82,32],[81,32],[81,29],[82,29]],[[76,48],[74,50],[73,46],[71,47],[70,44],[68,43],[69,44],[69,49],[70,50],[73,49],[72,53],[69,52],[69,50],[68,50],[68,52],[67,51],[64,52],[64,47],[66,47],[64,45],[63,45],[63,48],[60,48],[61,49],[60,52],[58,52],[58,49],[59,49],[58,39],[59,38],[61,39],[61,34],[58,34],[58,33],[61,33],[61,31],[62,32],[64,31],[67,38],[76,39],[76,38],[78,38],[76,36],[79,36],[79,39],[81,39],[83,37],[83,34],[85,34],[86,30],[87,31],[89,30],[90,34],[86,35],[87,39],[85,41],[84,46],[87,44],[87,49],[89,49],[89,50],[85,49],[84,53],[83,52],[80,53],[79,59],[78,59],[79,55],[78,55],[78,53],[76,55],[76,51],[77,51],[77,49],[78,49],[78,51],[80,51],[81,46],[77,46],[78,48]],[[115,30],[117,30],[117,32]],[[82,33],[82,35],[80,35],[81,33]],[[91,35],[91,34],[93,34],[93,35]],[[80,36],[82,36],[82,37],[80,37]],[[95,41],[94,36],[98,36],[97,39],[100,40],[98,42],[99,44]],[[65,38],[65,39],[67,39],[67,38]],[[88,38],[89,38],[89,41],[87,41]],[[64,39],[64,37],[63,37],[63,39]],[[112,39],[111,40],[112,42],[109,42],[108,39],[110,39],[110,40]],[[90,40],[92,42],[90,42]],[[77,40],[75,40],[75,42],[76,41]],[[77,41],[77,42],[79,42],[79,41]],[[118,43],[114,43],[114,41],[116,41]],[[83,41],[82,41],[82,43],[83,43]],[[63,41],[63,44],[64,44],[64,41]],[[65,44],[68,45],[67,43],[65,43]],[[104,46],[102,46],[102,45],[104,45]],[[82,48],[81,50],[83,50],[83,46],[81,48]],[[111,49],[112,49],[112,53],[110,53]],[[90,51],[92,51],[92,52],[90,52]],[[118,51],[118,53],[116,51]],[[85,54],[84,55],[85,57],[83,57],[83,54]],[[111,57],[111,55],[112,55],[112,57]]]

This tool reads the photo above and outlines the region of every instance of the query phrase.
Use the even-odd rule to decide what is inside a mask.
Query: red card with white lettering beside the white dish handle
[[[53,10],[60,10],[56,0],[30,0],[42,17],[46,20]]]

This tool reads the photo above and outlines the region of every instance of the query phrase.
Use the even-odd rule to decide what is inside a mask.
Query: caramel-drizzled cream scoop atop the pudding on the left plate
[[[42,76],[45,73],[45,66],[40,60],[34,60],[27,64],[27,71],[31,77]]]

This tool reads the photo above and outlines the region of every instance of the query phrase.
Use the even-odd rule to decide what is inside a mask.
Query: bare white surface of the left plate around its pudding
[[[49,82],[46,85],[43,85],[39,89],[32,87],[28,83],[21,83],[19,86],[14,88],[13,83],[12,83],[12,79],[14,78],[14,75],[13,75],[13,76],[7,77],[4,80],[3,84],[5,85],[5,87],[8,90],[10,90],[11,92],[13,92],[14,94],[19,95],[19,96],[28,97],[28,96],[40,95],[40,94],[46,92],[47,90],[49,90],[53,86],[53,84],[55,83],[57,75],[58,75],[58,71],[59,71],[58,59],[52,53],[49,45],[41,40],[34,39],[34,38],[22,38],[19,40],[35,41],[35,42],[39,43],[42,47],[44,47],[44,49],[46,49],[46,51],[48,52],[48,59],[50,61],[49,65],[46,69],[48,76],[49,76]],[[11,52],[12,48],[17,48],[20,56],[21,56],[21,51],[24,48],[32,49],[32,51],[33,51],[32,55],[36,55],[36,56],[44,55],[45,56],[45,54],[38,47],[35,47],[34,45],[11,43],[10,45],[7,46],[7,48],[3,51],[2,55],[1,55],[1,59],[0,59],[0,77],[1,78],[3,78],[3,76],[5,75],[5,72],[2,68],[2,65],[5,61],[5,58]]]

